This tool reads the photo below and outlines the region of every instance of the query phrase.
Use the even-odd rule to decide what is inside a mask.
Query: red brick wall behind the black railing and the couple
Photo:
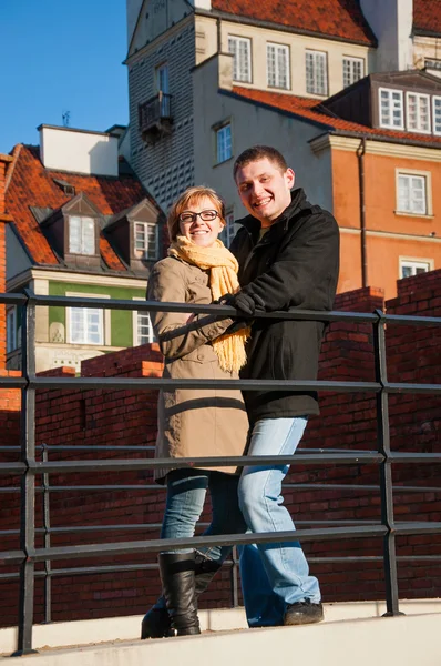
[[[399,295],[388,302],[388,313],[418,313],[441,316],[441,271],[408,279],[399,284]],[[382,292],[375,289],[341,294],[337,309],[371,312],[382,307]],[[409,329],[388,324],[388,372],[394,382],[441,383],[441,360],[438,352],[441,329]],[[438,352],[438,353],[437,353]],[[83,363],[85,376],[157,376],[161,374],[161,354],[156,345],[107,354]],[[71,375],[71,369],[60,369]],[[48,373],[45,373],[48,374]],[[53,371],[51,371],[53,374]],[[334,323],[324,342],[319,379],[373,381],[372,329],[370,324]],[[320,396],[321,414],[314,417],[302,442],[305,448],[376,450],[376,403],[369,394],[330,394]],[[440,452],[440,401],[430,395],[391,396],[390,423],[392,450]],[[50,460],[142,457],[152,451],[136,450],[153,446],[156,433],[155,392],[134,391],[44,391],[38,394],[37,443],[59,445],[119,445],[134,451],[92,453],[80,451],[53,452]],[[440,487],[440,466],[419,464],[394,465],[393,483],[408,486]],[[288,484],[314,483],[308,490],[286,488],[285,501],[298,527],[318,525],[324,521],[379,521],[380,496],[376,490],[360,487],[320,488],[318,484],[378,485],[379,468],[375,465],[293,465]],[[1,477],[0,477],[1,483]],[[164,491],[145,486],[152,483],[150,472],[51,475],[51,485],[127,484],[132,490],[52,492],[51,526],[94,525],[90,533],[57,533],[52,545],[111,543],[145,539],[158,535]],[[18,526],[17,496],[3,496],[0,508],[0,528]],[[2,500],[3,500],[2,497]],[[396,492],[397,521],[441,521],[440,493]],[[207,513],[205,513],[207,519]],[[37,521],[41,526],[41,494],[37,502]],[[136,527],[135,525],[156,524]],[[100,529],[104,525],[125,525],[122,531]],[[322,525],[322,523],[321,523]],[[326,525],[322,525],[326,526]],[[42,544],[42,536],[38,537]],[[4,539],[3,548],[17,548],[18,537]],[[382,565],[371,559],[363,563],[319,563],[317,557],[379,556],[381,539],[345,539],[306,544],[311,572],[318,575],[325,601],[383,598]],[[398,555],[440,555],[439,536],[398,538]],[[140,564],[139,569],[63,575],[53,578],[52,618],[57,620],[129,615],[143,613],[160,593],[155,556],[101,557],[74,562],[54,562],[53,568],[69,566],[101,566],[112,563]],[[230,604],[228,567],[224,567],[202,599],[202,606]],[[0,624],[14,624],[17,617],[17,582],[0,582]],[[440,595],[441,567],[433,563],[399,561],[401,598],[434,597]],[[42,579],[38,579],[35,619],[42,619]]]

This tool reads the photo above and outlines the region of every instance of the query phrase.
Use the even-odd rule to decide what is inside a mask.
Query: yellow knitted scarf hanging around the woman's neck
[[[239,268],[237,260],[219,239],[211,248],[201,248],[185,236],[178,235],[171,244],[168,254],[178,256],[203,271],[209,269],[209,287],[214,301],[224,294],[234,294],[240,289],[237,280]],[[222,370],[238,372],[245,365],[245,343],[249,332],[249,329],[243,329],[236,333],[221,335],[213,341],[213,349]]]

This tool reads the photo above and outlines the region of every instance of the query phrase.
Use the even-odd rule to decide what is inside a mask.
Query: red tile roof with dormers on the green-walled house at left
[[[7,190],[7,211],[12,215],[29,253],[35,263],[59,264],[30,206],[57,210],[72,199],[53,182],[53,179],[68,181],[75,193],[84,192],[103,215],[113,215],[131,208],[147,196],[140,181],[132,175],[106,178],[80,175],[50,171],[40,161],[38,147],[18,145],[14,149],[12,174]],[[100,252],[104,262],[114,271],[125,271],[114,250],[103,234],[100,236]]]

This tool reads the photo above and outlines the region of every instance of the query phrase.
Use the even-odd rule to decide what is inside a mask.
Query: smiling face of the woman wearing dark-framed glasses
[[[201,213],[207,211],[215,211],[217,215],[213,220],[203,220]],[[186,214],[188,220],[185,220]],[[202,248],[211,248],[216,242],[224,224],[218,203],[209,196],[191,199],[187,208],[180,215],[181,235]]]

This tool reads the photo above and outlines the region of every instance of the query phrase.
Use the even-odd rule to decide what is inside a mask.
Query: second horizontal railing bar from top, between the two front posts
[[[299,382],[296,380],[172,380],[164,377],[29,377],[30,389],[114,389],[152,391],[155,389],[216,389],[217,391],[332,391],[337,393],[378,393],[377,382]]]

